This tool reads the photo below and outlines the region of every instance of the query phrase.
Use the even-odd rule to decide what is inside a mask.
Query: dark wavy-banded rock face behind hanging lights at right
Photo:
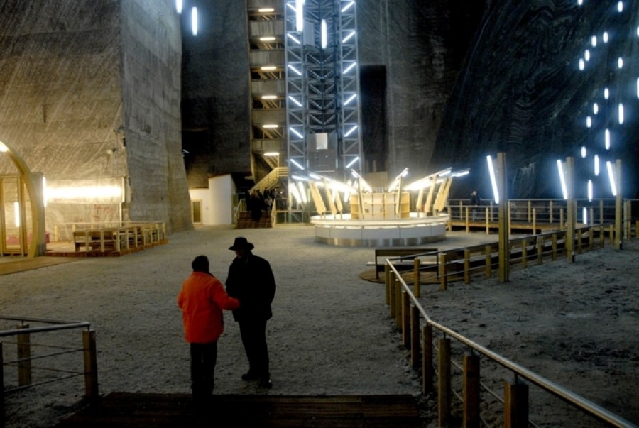
[[[470,180],[454,185],[458,197],[468,197],[475,186],[487,197],[486,155],[497,152],[506,153],[511,198],[561,197],[557,159],[569,156],[575,158],[577,197],[586,197],[587,180],[594,182],[595,197],[611,197],[603,161],[616,159],[623,163],[623,197],[635,197],[639,4],[621,3],[621,12],[618,1],[584,1],[582,6],[577,0],[488,3],[447,101],[431,161],[472,168]],[[590,57],[580,71],[586,50]],[[591,116],[591,128],[586,116]],[[609,150],[604,146],[606,128]],[[599,177],[593,172],[595,154],[602,161]]]

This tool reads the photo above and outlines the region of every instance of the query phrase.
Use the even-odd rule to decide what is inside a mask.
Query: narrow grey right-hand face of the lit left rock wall
[[[173,1],[121,1],[122,104],[133,221],[192,228],[182,160],[180,18]]]

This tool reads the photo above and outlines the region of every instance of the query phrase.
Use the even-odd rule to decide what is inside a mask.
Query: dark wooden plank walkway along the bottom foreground
[[[110,393],[57,428],[422,427],[410,395],[215,395],[206,410],[189,395]]]

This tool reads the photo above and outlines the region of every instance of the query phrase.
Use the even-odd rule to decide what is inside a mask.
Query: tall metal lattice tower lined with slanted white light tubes
[[[289,173],[342,180],[364,165],[356,2],[285,0],[284,9]]]

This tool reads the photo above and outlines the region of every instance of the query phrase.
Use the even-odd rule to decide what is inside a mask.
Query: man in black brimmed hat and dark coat
[[[242,379],[259,380],[263,388],[271,388],[266,322],[273,317],[275,277],[268,261],[253,254],[253,248],[253,244],[241,236],[229,247],[235,251],[235,258],[226,277],[226,290],[242,302],[242,306],[233,311],[249,360],[249,371]]]

